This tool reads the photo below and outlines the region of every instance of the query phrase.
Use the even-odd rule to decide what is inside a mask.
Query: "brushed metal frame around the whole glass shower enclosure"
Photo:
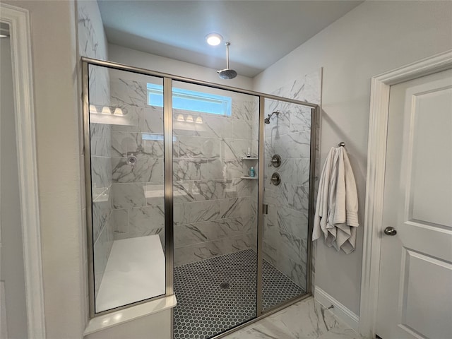
[[[191,78],[184,78],[182,76],[174,76],[167,73],[157,71],[150,71],[148,69],[141,69],[134,66],[127,66],[124,64],[117,64],[112,61],[103,61],[98,59],[91,59],[82,57],[82,100],[83,100],[83,134],[84,145],[83,154],[85,155],[85,195],[86,195],[86,227],[88,240],[88,284],[89,284],[89,304],[90,304],[90,318],[101,316],[103,314],[112,313],[120,309],[126,309],[137,304],[143,304],[153,299],[160,299],[174,295],[173,286],[173,268],[174,268],[174,242],[173,242],[173,154],[172,154],[172,81],[181,81],[184,83],[191,83],[194,85],[203,85],[208,88],[217,88],[220,90],[229,90],[234,93],[242,93],[246,95],[253,95],[259,98],[259,133],[258,133],[258,225],[257,225],[257,297],[256,297],[256,318],[247,321],[242,326],[237,326],[233,330],[249,325],[249,323],[261,319],[263,316],[279,311],[287,307],[289,304],[298,302],[311,295],[311,257],[312,244],[311,234],[314,220],[314,177],[315,177],[315,162],[316,162],[316,126],[319,117],[319,105],[311,104],[309,102],[302,102],[299,100],[288,99],[286,97],[278,97],[276,95],[268,95],[265,93],[258,93],[252,90],[242,90],[225,85],[218,85],[216,83],[209,83],[206,81],[199,81]],[[91,192],[91,159],[90,159],[90,117],[89,117],[89,66],[103,66],[109,69],[117,69],[119,71],[129,71],[131,73],[138,73],[145,76],[155,76],[163,80],[163,117],[164,117],[164,186],[165,186],[165,295],[141,300],[133,304],[127,304],[122,307],[109,309],[107,311],[95,312],[95,288],[94,288],[94,253],[93,253],[93,198]],[[265,100],[278,100],[281,102],[289,102],[304,107],[311,108],[311,140],[310,140],[310,169],[309,169],[309,224],[308,224],[308,241],[307,241],[307,288],[306,294],[290,299],[277,307],[274,307],[263,313],[262,304],[262,266],[263,266],[263,196],[264,196],[264,119],[265,119]],[[230,331],[220,333],[215,338],[221,338]]]

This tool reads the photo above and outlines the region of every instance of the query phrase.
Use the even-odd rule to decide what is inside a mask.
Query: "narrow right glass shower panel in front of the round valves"
[[[311,108],[265,100],[262,304],[307,291]]]

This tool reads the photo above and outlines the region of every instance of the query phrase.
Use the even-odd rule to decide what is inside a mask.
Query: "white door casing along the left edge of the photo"
[[[45,338],[44,289],[37,184],[30,16],[28,10],[0,3],[0,20],[11,28],[14,115],[22,225],[28,335]]]

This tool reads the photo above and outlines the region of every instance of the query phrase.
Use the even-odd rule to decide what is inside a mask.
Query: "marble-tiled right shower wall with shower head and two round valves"
[[[273,94],[320,103],[320,81],[321,72],[314,72]],[[265,126],[264,201],[268,215],[264,216],[264,258],[306,288],[311,109],[275,100],[266,100],[265,109],[266,115],[280,114]],[[270,163],[274,154],[282,158],[278,168]],[[281,176],[279,186],[270,183],[273,172]]]

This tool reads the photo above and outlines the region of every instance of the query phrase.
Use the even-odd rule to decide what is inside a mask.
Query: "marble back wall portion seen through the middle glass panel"
[[[232,114],[196,114],[203,124],[194,129],[177,121],[193,112],[174,111],[175,265],[256,249],[257,180],[242,179],[249,168],[242,157],[248,148],[257,153],[258,100],[222,95],[232,96]]]

